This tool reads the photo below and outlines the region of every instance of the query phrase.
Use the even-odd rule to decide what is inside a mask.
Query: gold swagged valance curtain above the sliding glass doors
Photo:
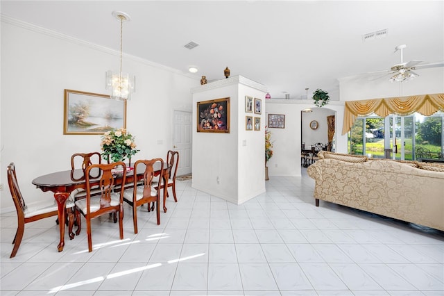
[[[444,94],[346,101],[342,134],[345,135],[350,131],[358,116],[375,113],[380,117],[386,117],[390,114],[410,115],[415,112],[429,116],[438,110],[444,111]]]

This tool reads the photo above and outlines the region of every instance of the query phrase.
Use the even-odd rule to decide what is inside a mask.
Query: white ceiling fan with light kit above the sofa
[[[413,70],[416,69],[425,69],[425,68],[432,68],[432,67],[443,67],[444,63],[433,63],[433,64],[426,64],[426,65],[419,65],[420,63],[424,62],[424,60],[411,60],[409,62],[404,62],[403,60],[403,49],[407,47],[406,44],[398,45],[395,47],[396,51],[401,51],[401,63],[393,65],[390,70],[388,70],[392,76],[388,81],[390,82],[403,82],[403,81],[409,81],[415,77],[418,77],[419,74],[416,74],[413,72]]]

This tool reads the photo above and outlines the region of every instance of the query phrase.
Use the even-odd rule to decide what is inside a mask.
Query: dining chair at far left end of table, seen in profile
[[[22,238],[24,235],[25,224],[29,222],[34,222],[37,220],[41,220],[47,217],[57,216],[58,215],[58,206],[56,204],[56,200],[53,200],[53,204],[47,203],[36,203],[32,206],[28,206],[25,203],[22,192],[19,188],[19,183],[17,181],[17,173],[15,172],[14,163],[10,163],[8,165],[8,185],[9,190],[12,196],[12,200],[14,201],[15,209],[17,211],[17,231],[15,233],[14,240],[12,243],[14,247],[12,249],[12,253],[10,258],[15,257],[17,251],[20,247],[20,243],[22,242]],[[74,238],[74,233],[72,232],[72,227],[74,224],[73,220],[73,211],[74,202],[67,200],[66,203],[66,214],[68,215],[68,227],[69,227],[69,238]]]

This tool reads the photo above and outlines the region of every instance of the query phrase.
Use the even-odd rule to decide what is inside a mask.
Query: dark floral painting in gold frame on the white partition
[[[230,133],[230,97],[197,102],[197,131]]]

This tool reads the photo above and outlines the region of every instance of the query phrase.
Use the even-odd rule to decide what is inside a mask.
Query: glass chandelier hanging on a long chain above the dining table
[[[111,70],[106,72],[106,89],[110,90],[111,99],[128,100],[135,92],[135,76],[122,72],[122,40],[123,22],[129,22],[130,16],[121,11],[113,11],[112,15],[120,22],[120,69],[118,73]]]

